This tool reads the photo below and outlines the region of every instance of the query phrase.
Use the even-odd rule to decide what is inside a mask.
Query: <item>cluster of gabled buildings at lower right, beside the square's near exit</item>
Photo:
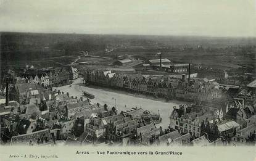
[[[256,101],[244,99],[203,102],[200,105],[174,107],[170,127],[189,133],[200,146],[256,145]],[[200,140],[200,138],[202,138]],[[194,144],[194,141],[191,141]]]

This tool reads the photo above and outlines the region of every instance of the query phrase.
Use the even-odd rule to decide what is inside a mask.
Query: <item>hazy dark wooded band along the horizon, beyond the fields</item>
[[[115,47],[126,49],[138,47],[226,47],[255,45],[255,38],[208,38],[195,36],[142,36],[142,35],[85,35],[53,33],[0,33],[2,60],[35,60],[49,57],[70,56],[79,51],[104,51]],[[137,47],[136,47],[137,46]],[[165,50],[165,49],[163,49]],[[156,50],[158,51],[158,50]],[[1,60],[1,61],[2,61]]]

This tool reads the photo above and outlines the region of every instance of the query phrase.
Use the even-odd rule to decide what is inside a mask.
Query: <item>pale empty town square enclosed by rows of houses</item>
[[[80,81],[80,83],[78,83]],[[78,84],[75,84],[78,83]],[[163,99],[154,99],[152,97],[146,97],[143,95],[136,95],[126,93],[124,91],[117,91],[107,88],[88,87],[81,83],[80,80],[76,80],[71,87],[62,86],[58,87],[61,92],[70,93],[71,96],[82,96],[83,91],[94,94],[95,98],[91,100],[93,103],[99,102],[100,104],[107,104],[109,107],[113,107],[116,101],[116,107],[118,112],[122,110],[130,110],[132,107],[142,107],[154,113],[160,113],[163,118],[162,123],[159,126],[167,128],[170,123],[169,115],[173,110],[173,106],[178,106],[180,102],[166,102]]]

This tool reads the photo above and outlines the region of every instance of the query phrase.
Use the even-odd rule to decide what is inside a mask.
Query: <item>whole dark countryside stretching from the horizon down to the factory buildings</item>
[[[159,59],[155,54],[162,52],[163,59],[167,58],[178,63],[189,62],[221,69],[238,68],[241,64],[255,67],[255,38],[43,33],[0,33],[0,35],[2,67],[7,65],[23,67],[25,64],[38,68],[68,65],[80,56],[80,51],[88,51],[89,56],[132,55],[144,59]],[[197,50],[197,45],[211,50]],[[183,47],[190,47],[193,50],[181,51]],[[105,53],[106,48],[113,51]],[[247,54],[248,50],[249,54]],[[98,65],[99,68],[107,68],[113,61],[81,57],[76,63],[84,62]],[[78,68],[85,67],[82,65]]]

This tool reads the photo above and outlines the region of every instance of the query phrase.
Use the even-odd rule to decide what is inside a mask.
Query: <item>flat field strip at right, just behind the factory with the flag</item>
[[[226,54],[224,52],[196,52],[196,51],[161,51],[162,59],[170,59],[176,63],[202,64],[205,66],[221,69],[239,68],[240,64],[255,65],[255,60],[249,56],[239,54]],[[155,49],[147,51],[114,51],[112,54],[137,55],[146,59],[159,59]]]

